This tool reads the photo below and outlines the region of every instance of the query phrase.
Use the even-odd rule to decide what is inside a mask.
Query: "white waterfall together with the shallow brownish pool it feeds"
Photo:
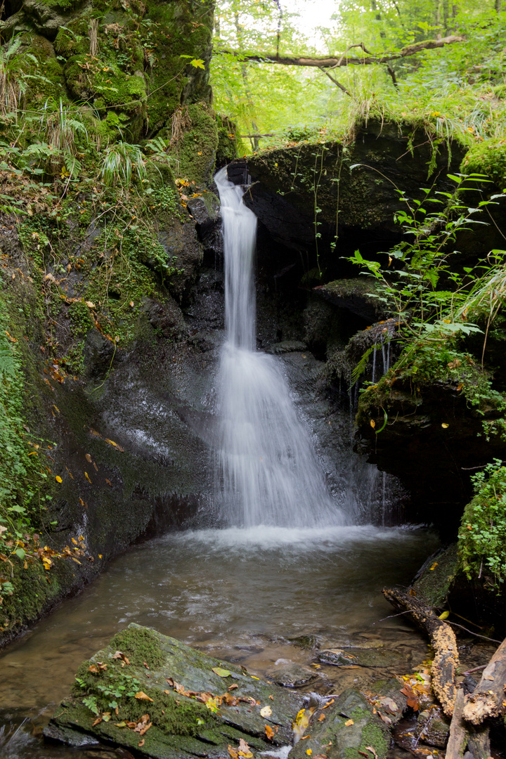
[[[346,493],[339,499],[328,493],[278,360],[255,350],[255,216],[225,170],[216,181],[224,218],[226,339],[218,373],[215,496],[224,526],[168,534],[119,557],[2,654],[2,759],[111,756],[46,746],[37,735],[68,694],[80,663],[130,622],[244,664],[258,676],[275,679],[280,668],[298,667],[321,692],[360,685],[369,673],[313,668],[318,649],[383,645],[402,650],[407,665],[426,656],[423,638],[404,617],[392,616],[380,591],[410,581],[437,539],[426,530],[353,525]]]

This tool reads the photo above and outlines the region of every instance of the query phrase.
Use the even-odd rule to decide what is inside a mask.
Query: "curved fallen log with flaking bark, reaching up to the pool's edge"
[[[408,609],[416,624],[429,635],[434,649],[431,669],[432,690],[445,714],[451,716],[457,698],[455,676],[459,664],[454,631],[450,625],[439,619],[429,606],[416,596],[410,595],[408,591],[398,587],[384,587],[383,595],[396,609],[402,611]]]

